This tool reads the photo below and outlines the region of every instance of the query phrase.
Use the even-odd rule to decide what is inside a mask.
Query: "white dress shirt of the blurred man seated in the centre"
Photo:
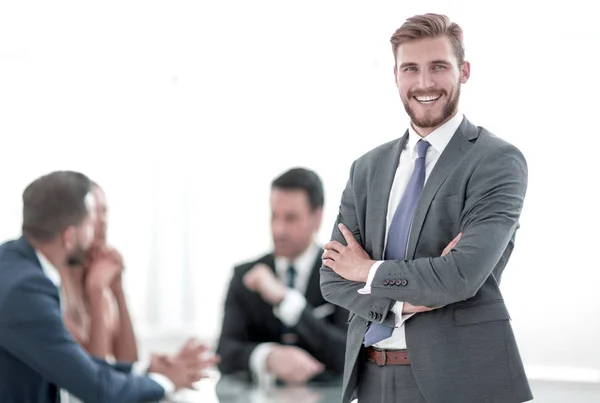
[[[294,288],[288,288],[279,306],[273,308],[275,317],[286,326],[293,327],[298,324],[302,311],[306,307],[304,294],[320,252],[321,248],[315,243],[311,243],[308,249],[294,261],[281,256],[275,257],[275,272],[283,284],[288,284],[289,281],[288,268],[294,266],[294,269],[296,269]],[[267,357],[274,344],[261,343],[250,354],[250,370],[254,375],[254,379],[258,380],[259,383],[269,384],[275,381],[275,378],[267,372]]]

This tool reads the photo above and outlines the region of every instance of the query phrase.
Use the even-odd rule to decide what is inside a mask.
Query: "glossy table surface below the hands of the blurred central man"
[[[172,403],[340,403],[341,380],[305,386],[259,387],[234,375],[213,375],[195,391],[178,393]]]

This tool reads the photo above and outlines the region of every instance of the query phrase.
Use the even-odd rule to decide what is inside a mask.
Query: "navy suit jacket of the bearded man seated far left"
[[[93,359],[61,317],[59,293],[25,238],[0,246],[0,401],[55,403],[65,389],[86,403],[157,401],[164,390],[131,364]]]

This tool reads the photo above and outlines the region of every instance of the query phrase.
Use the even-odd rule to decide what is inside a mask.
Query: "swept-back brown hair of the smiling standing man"
[[[443,14],[428,13],[408,18],[390,38],[394,58],[398,47],[405,42],[443,35],[450,39],[458,65],[462,65],[465,61],[462,28]]]

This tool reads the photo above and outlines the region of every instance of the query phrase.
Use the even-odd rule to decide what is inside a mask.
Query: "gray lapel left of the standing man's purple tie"
[[[408,130],[400,140],[385,150],[379,157],[379,161],[377,161],[377,169],[368,199],[370,208],[367,210],[367,223],[371,223],[373,226],[371,247],[373,251],[372,258],[375,260],[383,258],[390,192],[400,163],[400,153],[404,149],[407,140]]]

